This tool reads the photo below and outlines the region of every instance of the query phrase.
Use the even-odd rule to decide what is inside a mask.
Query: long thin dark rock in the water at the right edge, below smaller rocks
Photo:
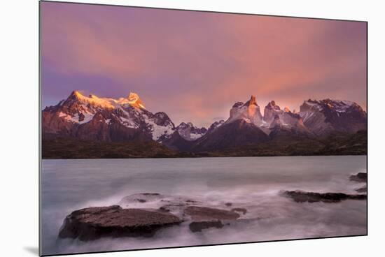
[[[367,196],[363,194],[349,195],[346,193],[314,193],[304,191],[284,191],[284,196],[288,196],[297,203],[339,203],[342,200],[366,200]]]

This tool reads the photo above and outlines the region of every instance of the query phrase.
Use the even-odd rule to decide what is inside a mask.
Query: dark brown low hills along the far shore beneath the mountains
[[[367,131],[334,133],[325,138],[277,138],[269,142],[211,152],[182,152],[155,141],[102,142],[44,137],[43,159],[137,159],[246,156],[367,155]]]

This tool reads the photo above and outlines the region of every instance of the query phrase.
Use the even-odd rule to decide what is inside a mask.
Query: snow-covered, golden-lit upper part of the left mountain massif
[[[91,122],[94,115],[99,113],[106,124],[118,122],[128,129],[143,129],[151,134],[153,140],[174,133],[174,124],[164,112],[153,115],[146,110],[138,94],[132,92],[127,98],[113,99],[99,98],[94,94],[83,96],[79,91],[73,91],[66,100],[44,111],[56,113],[59,119],[73,126]]]

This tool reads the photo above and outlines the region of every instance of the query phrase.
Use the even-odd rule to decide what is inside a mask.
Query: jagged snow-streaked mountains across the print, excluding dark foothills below
[[[208,128],[181,122],[165,112],[151,112],[138,94],[126,98],[83,96],[68,98],[43,110],[44,138],[72,138],[94,142],[156,142],[175,151],[222,151],[231,147],[316,140],[333,133],[365,131],[367,115],[351,101],[307,100],[299,112],[270,101],[260,111],[256,97],[230,105],[229,117]]]

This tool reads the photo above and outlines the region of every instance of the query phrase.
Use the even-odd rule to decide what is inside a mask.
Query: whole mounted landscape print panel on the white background
[[[367,235],[367,23],[40,2],[40,254]]]

